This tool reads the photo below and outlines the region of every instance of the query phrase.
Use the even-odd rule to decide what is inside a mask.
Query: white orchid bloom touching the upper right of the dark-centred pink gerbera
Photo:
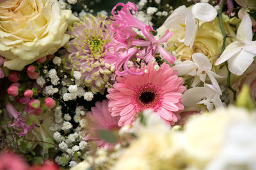
[[[218,92],[221,94],[220,85],[215,78],[223,78],[223,76],[219,76],[211,71],[212,64],[210,60],[203,53],[193,53],[192,59],[193,61],[186,60],[181,64],[173,66],[172,68],[178,71],[178,76],[183,76],[185,74],[195,76],[191,84],[192,87],[196,87],[200,81],[205,82],[205,78],[208,76],[212,82],[212,85],[214,85],[214,87],[216,87]]]

